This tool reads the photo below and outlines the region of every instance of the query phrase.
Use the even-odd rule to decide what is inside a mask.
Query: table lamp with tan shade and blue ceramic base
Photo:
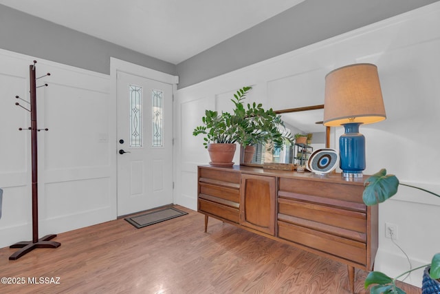
[[[386,119],[377,66],[347,65],[325,76],[324,125],[343,125],[339,138],[340,169],[346,178],[362,178],[365,137],[359,126]]]

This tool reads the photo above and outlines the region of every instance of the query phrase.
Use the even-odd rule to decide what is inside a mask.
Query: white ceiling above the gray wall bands
[[[177,64],[305,0],[0,0]]]

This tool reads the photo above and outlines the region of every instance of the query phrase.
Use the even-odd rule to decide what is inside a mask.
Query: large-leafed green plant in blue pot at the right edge
[[[397,193],[397,187],[399,185],[419,189],[434,196],[440,197],[439,194],[432,191],[399,182],[396,176],[391,174],[387,175],[386,169],[381,169],[379,172],[373,174],[373,176],[366,179],[364,185],[366,185],[366,187],[364,189],[362,198],[366,205],[379,204],[380,202],[384,202],[388,198],[391,198],[395,195],[395,193]],[[401,290],[401,288],[396,286],[395,282],[397,278],[402,277],[403,275],[406,275],[411,271],[423,268],[426,268],[425,273],[423,274],[423,294],[440,293],[440,253],[437,253],[433,256],[432,262],[430,264],[419,266],[415,269],[410,269],[409,271],[398,275],[394,279],[388,277],[388,275],[385,275],[380,271],[372,271],[366,277],[365,288],[368,288],[370,285],[375,284],[375,286],[371,287],[370,290],[370,293],[372,294],[405,293],[403,290]],[[432,291],[430,291],[430,288],[432,289]]]

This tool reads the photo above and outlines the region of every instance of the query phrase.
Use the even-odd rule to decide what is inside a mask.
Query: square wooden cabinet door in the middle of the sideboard
[[[275,177],[241,174],[240,224],[275,235]]]

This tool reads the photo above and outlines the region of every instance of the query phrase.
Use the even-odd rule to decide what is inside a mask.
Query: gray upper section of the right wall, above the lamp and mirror
[[[179,89],[438,0],[306,0],[177,65]]]

